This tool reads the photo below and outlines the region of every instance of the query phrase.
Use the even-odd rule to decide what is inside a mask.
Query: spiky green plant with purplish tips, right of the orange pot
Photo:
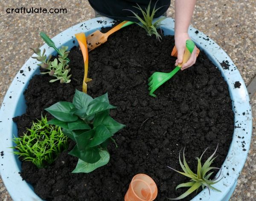
[[[204,152],[207,150],[208,148],[206,148],[204,150]],[[176,169],[173,169],[172,167],[169,167],[170,169],[188,177],[188,178],[191,178],[191,180],[187,183],[183,183],[183,184],[179,184],[177,185],[176,187],[176,190],[178,188],[181,188],[181,187],[190,187],[189,190],[187,190],[186,192],[184,192],[182,195],[180,195],[179,197],[177,198],[168,198],[169,200],[180,200],[180,199],[183,199],[185,198],[186,196],[188,196],[189,194],[191,194],[192,192],[194,192],[196,190],[196,192],[198,192],[198,189],[199,187],[202,187],[202,189],[204,190],[205,187],[207,187],[207,189],[209,190],[209,193],[210,193],[210,189],[212,190],[216,190],[218,192],[221,192],[220,190],[212,187],[213,184],[216,184],[218,183],[221,179],[218,180],[218,178],[220,177],[221,175],[221,172],[220,172],[220,175],[218,175],[217,178],[213,179],[213,180],[210,180],[209,177],[213,174],[213,172],[210,172],[210,173],[207,173],[209,172],[210,170],[212,169],[220,169],[220,168],[217,168],[217,167],[210,167],[210,165],[212,164],[212,162],[214,161],[214,159],[217,157],[215,156],[214,158],[212,158],[216,151],[218,149],[218,145],[217,145],[217,148],[215,149],[215,152],[205,161],[203,167],[201,165],[201,159],[202,159],[202,156],[204,155],[204,152],[203,154],[201,155],[200,158],[196,158],[197,161],[198,161],[198,166],[197,166],[197,174],[195,174],[194,172],[191,171],[191,169],[189,168],[188,164],[186,163],[186,159],[185,159],[185,148],[183,149],[183,164],[180,160],[180,153],[179,153],[179,161],[180,161],[180,166],[181,168],[183,169],[184,172],[180,172],[180,171],[177,171]],[[181,150],[180,150],[181,151]]]

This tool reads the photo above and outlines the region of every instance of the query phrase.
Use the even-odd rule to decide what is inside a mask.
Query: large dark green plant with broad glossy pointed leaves
[[[62,101],[46,108],[55,117],[48,123],[61,126],[64,134],[76,142],[69,152],[79,158],[73,173],[88,173],[108,164],[108,142],[114,141],[112,136],[125,126],[109,116],[114,108],[108,93],[93,99],[78,90],[72,103]]]

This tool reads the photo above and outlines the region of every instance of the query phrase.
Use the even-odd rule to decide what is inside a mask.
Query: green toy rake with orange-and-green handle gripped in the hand
[[[164,73],[164,72],[154,72],[150,78],[148,78],[148,90],[149,95],[157,97],[154,95],[154,91],[161,86],[163,83],[165,83],[167,80],[172,78],[173,75],[175,75],[176,72],[178,72],[182,66],[183,63],[186,63],[189,60],[189,57],[191,56],[193,50],[195,48],[195,43],[192,40],[186,40],[186,48],[185,53],[183,56],[183,62],[178,64],[175,69],[172,70],[172,72]]]

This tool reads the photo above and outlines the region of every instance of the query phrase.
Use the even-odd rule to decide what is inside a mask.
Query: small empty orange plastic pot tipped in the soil
[[[135,175],[125,194],[125,201],[153,201],[157,197],[157,185],[145,174]]]

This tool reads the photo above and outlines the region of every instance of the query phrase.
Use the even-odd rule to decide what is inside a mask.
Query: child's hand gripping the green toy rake
[[[186,48],[186,40],[188,40],[188,39],[190,39],[190,37],[187,32],[175,34],[175,46],[176,46],[177,52],[178,52],[178,58],[175,62],[175,66],[177,66],[179,63],[182,63],[182,61],[183,61],[183,55],[184,55],[185,48]],[[197,47],[195,47],[195,49],[193,50],[189,60],[181,66],[181,70],[187,69],[190,66],[195,64],[196,50],[197,50]]]

